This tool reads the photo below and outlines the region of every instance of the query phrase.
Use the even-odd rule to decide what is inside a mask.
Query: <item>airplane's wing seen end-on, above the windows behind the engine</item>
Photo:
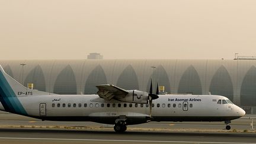
[[[113,97],[121,96],[121,95],[125,96],[129,94],[129,92],[126,91],[125,89],[116,87],[114,85],[105,84],[105,85],[97,85],[96,87],[98,88],[97,94],[101,98],[104,98],[105,100],[111,100]]]

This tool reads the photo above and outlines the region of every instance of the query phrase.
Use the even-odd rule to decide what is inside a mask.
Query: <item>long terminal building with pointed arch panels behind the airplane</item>
[[[212,94],[228,97],[247,114],[256,114],[256,60],[0,60],[10,76],[34,89],[56,94],[95,94],[95,85],[161,94]]]

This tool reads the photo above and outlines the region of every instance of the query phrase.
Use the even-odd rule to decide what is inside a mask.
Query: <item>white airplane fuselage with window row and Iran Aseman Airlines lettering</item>
[[[104,100],[98,95],[34,95],[18,97],[27,116],[42,120],[95,121],[114,124],[125,117],[127,124],[149,121],[148,104]],[[153,100],[151,121],[226,121],[244,116],[245,111],[220,95],[159,95]],[[2,104],[0,110],[5,111]]]

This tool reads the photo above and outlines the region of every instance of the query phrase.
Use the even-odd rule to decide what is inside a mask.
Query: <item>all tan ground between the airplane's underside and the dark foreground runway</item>
[[[252,116],[255,117],[255,116]],[[251,120],[237,119],[232,120],[232,130],[250,130]],[[254,127],[256,123],[254,123]],[[81,128],[109,128],[113,130],[113,125],[99,124],[89,121],[41,121],[30,117],[19,116],[17,114],[0,113],[0,127],[81,127]],[[225,132],[224,122],[150,122],[145,124],[129,125],[128,129],[155,129],[155,130],[209,130],[210,132],[223,131]]]

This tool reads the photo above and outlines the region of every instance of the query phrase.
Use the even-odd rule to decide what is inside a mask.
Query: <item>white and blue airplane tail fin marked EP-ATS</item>
[[[0,65],[0,102],[4,106],[5,111],[27,115],[23,105],[20,103],[20,100],[18,100],[18,97],[47,94],[49,93],[24,87],[5,73]]]

